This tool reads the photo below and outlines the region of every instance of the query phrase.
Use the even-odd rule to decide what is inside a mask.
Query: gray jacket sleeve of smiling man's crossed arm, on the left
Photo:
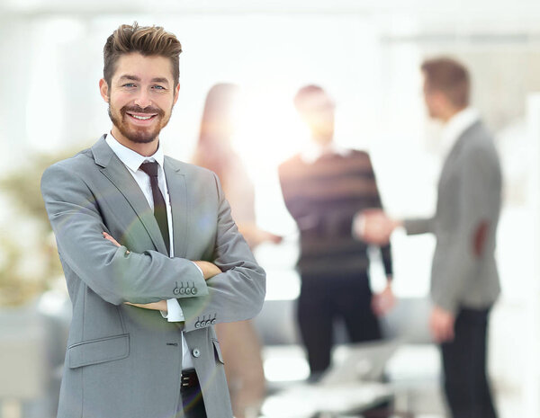
[[[157,251],[128,253],[103,238],[108,232],[98,199],[79,172],[65,162],[50,166],[41,178],[41,193],[58,243],[61,262],[105,301],[150,303],[177,298],[179,278],[208,293],[200,271],[189,260]]]

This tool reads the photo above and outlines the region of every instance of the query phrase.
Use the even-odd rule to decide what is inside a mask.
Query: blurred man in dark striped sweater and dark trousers
[[[367,153],[333,142],[334,102],[319,86],[303,87],[294,104],[311,130],[311,145],[279,167],[284,201],[300,230],[302,290],[298,321],[311,378],[330,364],[334,319],[351,342],[381,339],[377,319],[393,304],[390,245],[381,248],[388,282],[372,295],[365,242],[353,236],[356,213],[381,208]]]

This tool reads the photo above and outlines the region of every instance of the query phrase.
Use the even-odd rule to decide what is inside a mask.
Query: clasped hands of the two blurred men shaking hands
[[[368,244],[387,245],[401,221],[388,217],[383,209],[365,209],[358,212],[353,221],[353,236]]]

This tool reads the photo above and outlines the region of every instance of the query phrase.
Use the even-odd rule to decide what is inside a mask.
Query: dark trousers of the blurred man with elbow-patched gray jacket
[[[441,344],[446,399],[454,418],[496,418],[486,375],[490,309],[462,308],[455,339]]]

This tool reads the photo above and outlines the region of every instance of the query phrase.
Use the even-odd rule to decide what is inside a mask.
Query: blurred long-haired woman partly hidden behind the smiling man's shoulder
[[[280,236],[257,227],[255,190],[240,157],[232,147],[236,129],[238,86],[215,84],[206,96],[201,131],[193,163],[218,174],[231,215],[251,249],[263,242],[279,243]],[[237,418],[258,416],[266,392],[261,344],[251,321],[216,326],[232,410]],[[241,343],[238,343],[241,342]]]

